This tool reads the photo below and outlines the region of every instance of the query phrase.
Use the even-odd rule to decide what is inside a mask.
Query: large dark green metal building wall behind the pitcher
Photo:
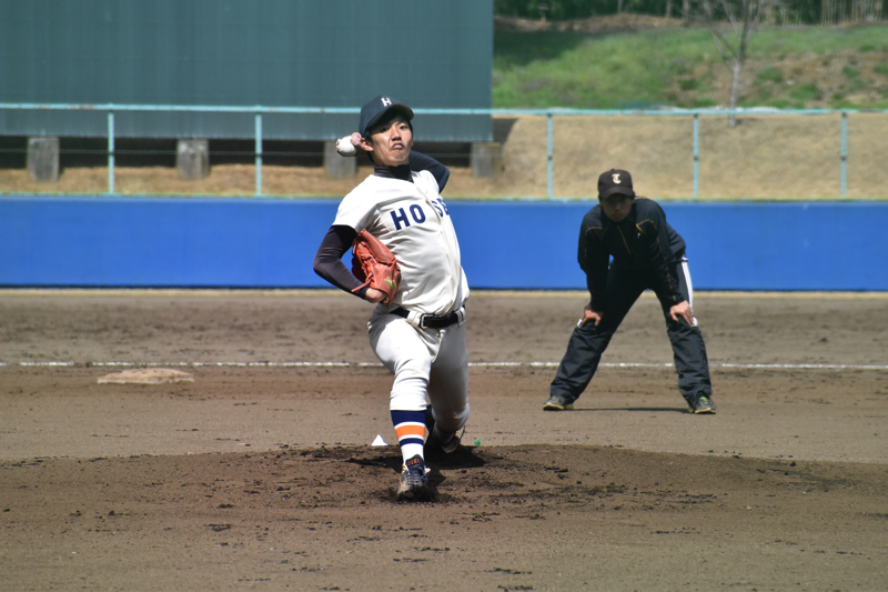
[[[493,0],[0,0],[0,102],[491,107]],[[354,114],[264,116],[323,140]],[[484,142],[490,116],[423,116],[423,141]],[[0,110],[0,136],[102,137],[104,112]],[[115,114],[121,138],[254,136],[250,113]]]

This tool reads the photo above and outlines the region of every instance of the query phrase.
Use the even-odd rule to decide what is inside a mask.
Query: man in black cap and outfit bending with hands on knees
[[[650,289],[666,317],[682,397],[693,413],[715,413],[706,345],[690,309],[685,241],[666,223],[657,202],[636,199],[627,171],[610,169],[598,177],[598,205],[583,218],[577,259],[592,299],[571,335],[543,409],[573,409],[619,323],[642,292]]]

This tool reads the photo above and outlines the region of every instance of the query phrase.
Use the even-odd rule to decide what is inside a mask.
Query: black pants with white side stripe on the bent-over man
[[[682,295],[692,301],[692,289],[687,274],[687,260],[678,264],[678,279]],[[610,265],[607,272],[606,309],[598,327],[587,322],[577,327],[567,343],[567,352],[558,365],[549,393],[568,401],[575,401],[586,390],[598,369],[604,350],[614,332],[626,318],[638,297],[646,289],[654,290],[666,317],[666,333],[673,345],[675,370],[678,373],[678,390],[688,404],[693,405],[702,395],[712,395],[709,360],[706,344],[697,327],[685,321],[673,321],[669,315],[672,304],[664,300],[664,293],[653,273],[646,271],[618,269]]]

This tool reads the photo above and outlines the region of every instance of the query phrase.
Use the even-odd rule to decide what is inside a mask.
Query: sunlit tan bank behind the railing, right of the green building
[[[619,168],[640,193],[665,199],[888,198],[888,112],[744,111],[735,128],[727,113],[518,118],[504,180],[536,197],[594,198],[598,173]],[[534,148],[548,134],[551,173]]]

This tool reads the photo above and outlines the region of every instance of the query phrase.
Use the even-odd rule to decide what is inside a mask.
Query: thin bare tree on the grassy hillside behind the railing
[[[699,0],[696,20],[703,23],[713,37],[718,54],[730,70],[730,109],[737,107],[740,90],[740,72],[746,62],[749,41],[763,17],[783,6],[781,0]],[[737,124],[737,117],[728,117],[728,127]]]

